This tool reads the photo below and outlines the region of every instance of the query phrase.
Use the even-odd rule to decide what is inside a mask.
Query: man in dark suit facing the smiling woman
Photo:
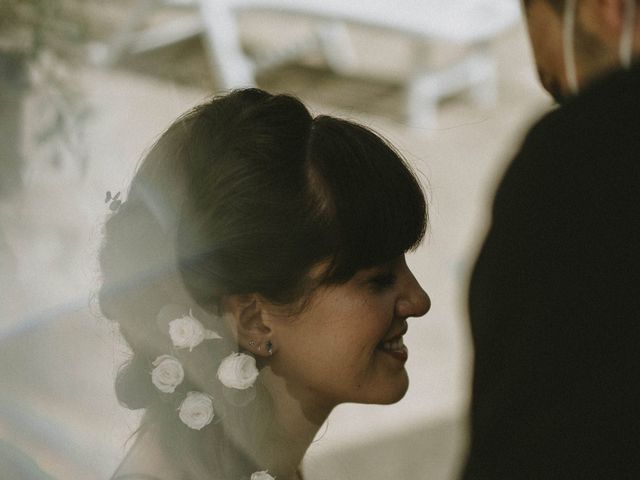
[[[472,479],[640,479],[639,0],[530,0],[563,106],[496,193],[470,286]]]

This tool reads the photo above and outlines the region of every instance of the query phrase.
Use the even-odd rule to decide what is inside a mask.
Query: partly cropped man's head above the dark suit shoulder
[[[540,81],[559,102],[640,54],[640,0],[523,3]]]

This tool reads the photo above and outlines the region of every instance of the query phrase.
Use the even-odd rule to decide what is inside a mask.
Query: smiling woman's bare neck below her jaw
[[[273,399],[276,425],[267,435],[265,463],[278,480],[297,479],[302,458],[333,406],[318,405],[311,395],[292,392],[269,368],[263,371],[263,384]]]

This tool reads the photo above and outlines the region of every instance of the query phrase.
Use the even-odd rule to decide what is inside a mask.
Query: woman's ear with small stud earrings
[[[236,334],[238,345],[254,355],[269,356],[271,327],[265,322],[265,302],[259,295],[228,295],[222,302],[224,316]]]

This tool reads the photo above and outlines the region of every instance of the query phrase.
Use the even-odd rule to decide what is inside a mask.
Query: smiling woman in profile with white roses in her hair
[[[113,479],[292,480],[343,402],[408,387],[423,192],[375,133],[258,89],[179,118],[110,198],[100,305],[145,413]]]

